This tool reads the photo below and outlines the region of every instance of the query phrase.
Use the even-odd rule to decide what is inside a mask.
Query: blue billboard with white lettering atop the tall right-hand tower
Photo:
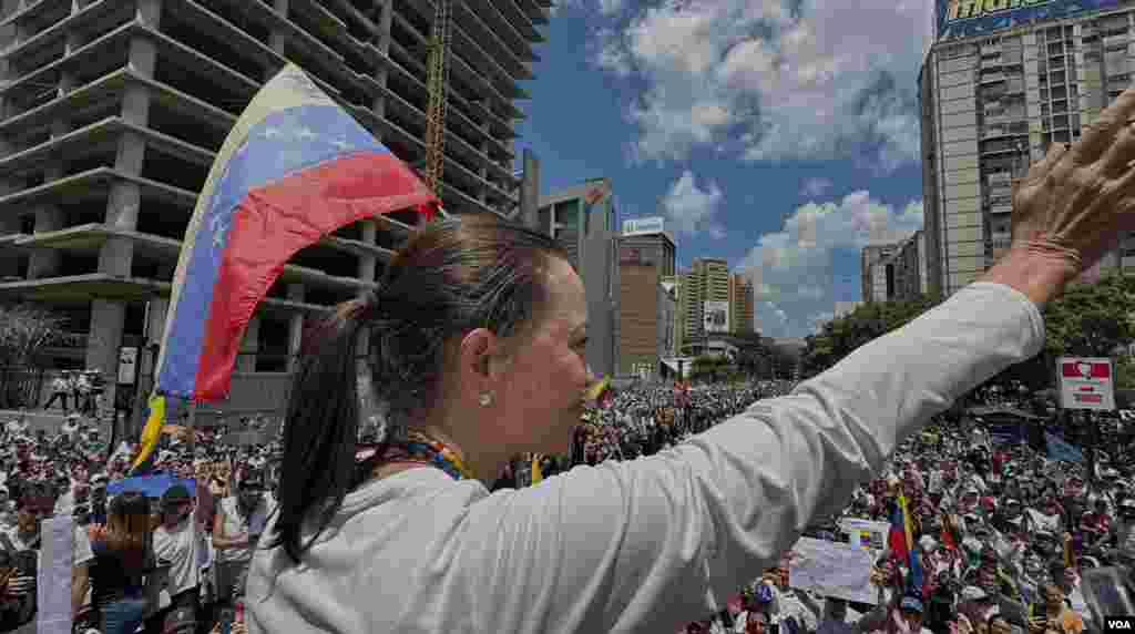
[[[1119,0],[938,0],[938,40],[1113,9]]]

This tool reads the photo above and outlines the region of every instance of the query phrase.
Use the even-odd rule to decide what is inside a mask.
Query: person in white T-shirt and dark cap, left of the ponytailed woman
[[[166,616],[179,609],[199,610],[201,560],[207,552],[204,526],[194,517],[193,498],[184,484],[161,496],[161,524],[153,531],[153,552],[166,594],[151,606],[146,631],[160,629]]]

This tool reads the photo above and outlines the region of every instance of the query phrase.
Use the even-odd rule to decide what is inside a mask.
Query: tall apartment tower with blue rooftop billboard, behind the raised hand
[[[1014,180],[1132,85],[1133,9],[1130,0],[939,0],[939,40],[919,76],[931,290],[951,294],[1000,257]],[[1125,237],[1085,279],[1132,265],[1135,242]]]

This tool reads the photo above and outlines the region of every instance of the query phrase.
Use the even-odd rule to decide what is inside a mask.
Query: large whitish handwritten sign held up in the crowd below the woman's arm
[[[875,605],[877,591],[871,584],[875,553],[863,548],[810,538],[792,547],[789,585],[824,597]]]

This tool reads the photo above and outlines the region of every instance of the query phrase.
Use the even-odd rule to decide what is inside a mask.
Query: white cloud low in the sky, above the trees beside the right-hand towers
[[[753,279],[767,335],[802,336],[813,331],[814,318],[835,306],[838,252],[898,242],[922,225],[922,201],[897,208],[860,191],[838,201],[808,202],[784,220],[780,231],[760,236],[734,270]],[[858,270],[854,278],[858,280]]]

